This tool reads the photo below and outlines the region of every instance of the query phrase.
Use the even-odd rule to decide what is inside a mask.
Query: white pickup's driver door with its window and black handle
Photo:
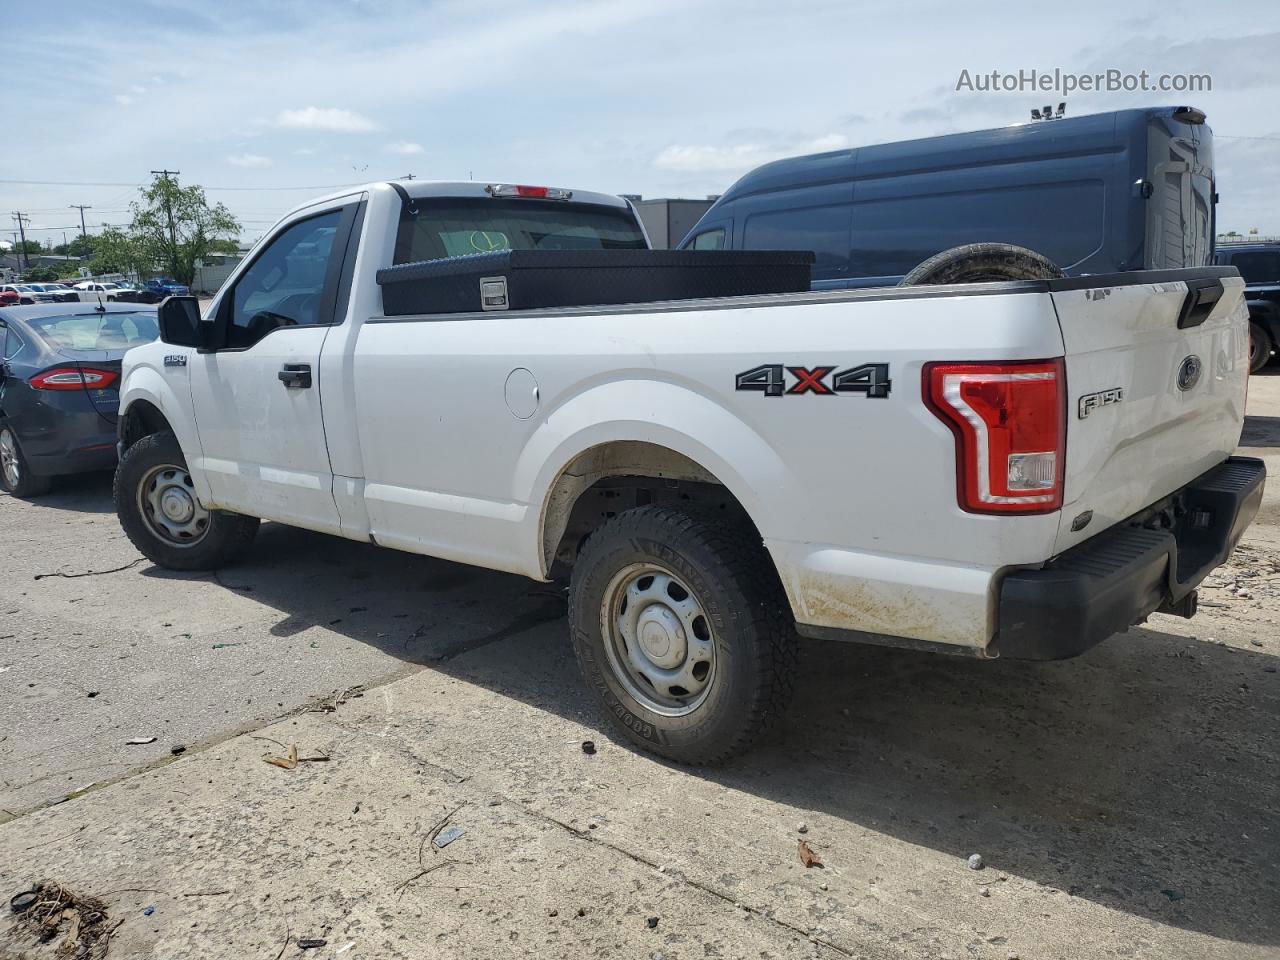
[[[276,232],[223,291],[218,347],[188,357],[201,466],[214,503],[337,532],[325,444],[320,351],[339,303],[358,204],[308,214]]]

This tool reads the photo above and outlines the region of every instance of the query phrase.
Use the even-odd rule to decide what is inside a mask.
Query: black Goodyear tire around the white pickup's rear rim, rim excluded
[[[690,712],[682,716],[655,712],[628,689],[641,685],[626,678],[617,655],[611,658],[614,640],[604,635],[607,591],[626,571],[645,564],[687,584],[705,612],[704,631],[709,623],[713,667],[701,699],[687,704]],[[573,564],[568,621],[582,676],[618,731],[672,760],[728,760],[746,750],[790,699],[795,623],[777,572],[746,524],[663,506],[620,513],[591,534]],[[708,644],[707,637],[701,643]]]

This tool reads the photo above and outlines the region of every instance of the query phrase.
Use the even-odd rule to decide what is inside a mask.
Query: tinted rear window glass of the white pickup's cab
[[[561,200],[419,200],[401,221],[396,262],[502,250],[645,250],[640,225],[622,207]]]

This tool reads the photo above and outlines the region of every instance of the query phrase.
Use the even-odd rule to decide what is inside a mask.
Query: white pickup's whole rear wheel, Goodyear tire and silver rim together
[[[794,623],[745,524],[662,506],[620,513],[573,566],[568,617],[618,730],[673,760],[746,750],[790,696]]]

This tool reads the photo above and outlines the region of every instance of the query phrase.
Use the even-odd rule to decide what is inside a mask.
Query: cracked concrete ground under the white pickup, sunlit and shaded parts
[[[1280,375],[1251,413],[1276,475]],[[612,739],[553,588],[274,525],[179,576],[106,477],[0,498],[0,892],[100,897],[109,956],[1276,957],[1277,494],[1193,621],[1051,664],[808,643],[719,771]]]

